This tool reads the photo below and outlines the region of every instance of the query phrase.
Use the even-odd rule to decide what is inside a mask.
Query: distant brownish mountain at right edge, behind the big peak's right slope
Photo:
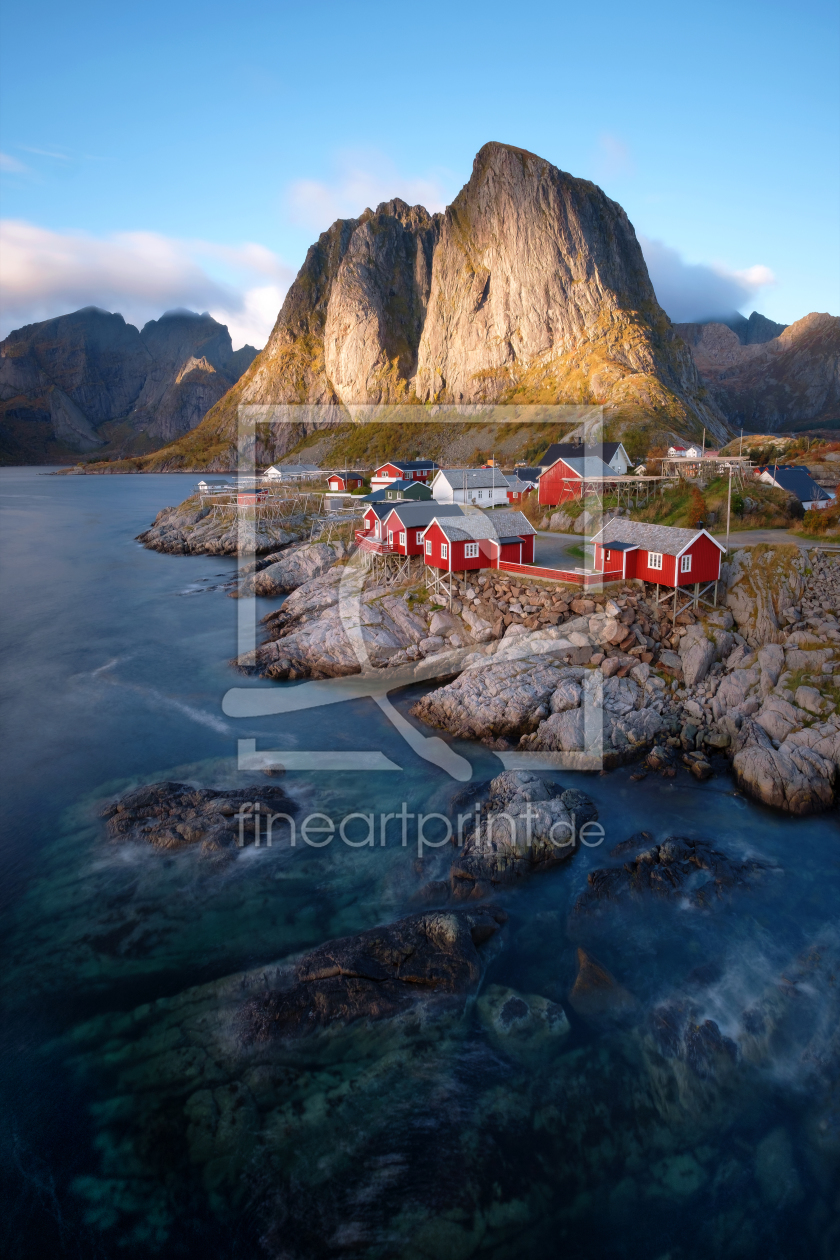
[[[754,319],[751,315],[749,323]],[[772,433],[840,422],[836,315],[814,311],[761,341],[743,341],[725,324],[675,326],[691,348],[709,396],[732,426]]]

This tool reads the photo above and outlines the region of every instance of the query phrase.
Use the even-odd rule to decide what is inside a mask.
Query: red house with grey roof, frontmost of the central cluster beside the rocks
[[[448,573],[499,568],[500,561],[533,564],[535,533],[521,512],[476,512],[456,519],[438,513],[423,532],[424,559]]]

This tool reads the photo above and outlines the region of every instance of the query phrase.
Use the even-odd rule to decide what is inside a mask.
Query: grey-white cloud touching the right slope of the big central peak
[[[769,267],[758,263],[743,271],[719,265],[685,262],[661,241],[639,238],[660,306],[675,324],[732,315],[751,302],[759,289],[776,284]]]

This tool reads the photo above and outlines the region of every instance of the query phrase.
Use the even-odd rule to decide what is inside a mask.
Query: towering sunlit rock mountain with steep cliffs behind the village
[[[613,436],[652,422],[725,440],[704,393],[622,208],[487,144],[443,214],[395,199],[322,233],[264,350],[157,466],[229,459],[241,403],[603,403]]]

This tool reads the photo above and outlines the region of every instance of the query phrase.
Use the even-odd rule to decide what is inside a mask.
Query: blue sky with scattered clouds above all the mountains
[[[489,140],[620,202],[674,320],[839,314],[839,14],[6,0],[0,336],[189,307],[262,346],[335,218],[443,209]]]

